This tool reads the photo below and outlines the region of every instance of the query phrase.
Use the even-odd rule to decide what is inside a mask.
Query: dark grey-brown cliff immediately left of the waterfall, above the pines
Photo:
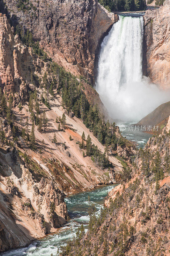
[[[55,61],[93,81],[94,58],[100,40],[118,16],[107,12],[96,0],[21,2],[23,6],[17,0],[4,1],[11,24],[32,31]]]

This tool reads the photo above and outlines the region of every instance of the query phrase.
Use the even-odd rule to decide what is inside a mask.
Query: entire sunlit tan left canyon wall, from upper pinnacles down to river
[[[2,101],[0,108],[0,252],[26,246],[61,227],[68,219],[64,196],[112,183],[107,169],[95,164],[91,156],[83,156],[79,142],[84,132],[85,138],[90,135],[92,143],[103,153],[105,146],[81,119],[66,111],[61,92],[56,90],[59,82],[50,69],[52,62],[45,62],[41,57],[23,44],[13,33],[6,15],[0,13],[0,94],[5,97],[4,111]],[[47,97],[44,74],[50,83],[52,78],[56,80],[55,94],[48,94],[50,107],[41,100]],[[85,86],[81,89],[92,97],[91,86],[87,83]],[[95,94],[94,89],[91,90]],[[36,100],[33,100],[30,112],[28,101],[33,92],[36,93]],[[12,102],[7,118],[10,96]],[[32,150],[26,133],[22,132],[23,128],[26,131],[26,126],[28,131],[32,130],[35,121],[32,114],[36,113],[37,102],[39,114],[45,112],[48,124],[46,131],[35,126],[36,149]],[[13,121],[9,119],[11,111]],[[59,130],[56,119],[59,120],[64,113],[66,127]],[[54,135],[55,142],[52,139]],[[122,164],[112,155],[109,161],[119,181]]]

